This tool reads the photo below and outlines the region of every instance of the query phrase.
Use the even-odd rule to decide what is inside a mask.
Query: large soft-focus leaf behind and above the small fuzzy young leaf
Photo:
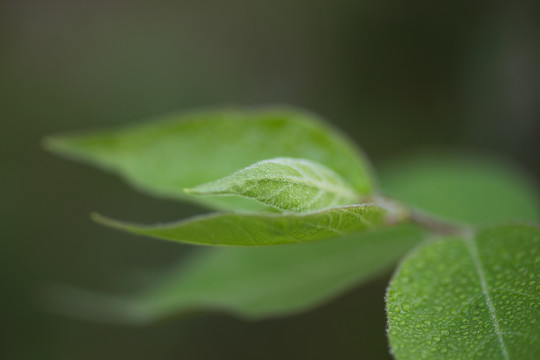
[[[344,135],[312,114],[287,108],[171,115],[118,129],[50,137],[45,146],[117,173],[151,194],[222,210],[264,207],[245,198],[193,196],[184,188],[276,157],[318,162],[356,192],[374,190],[370,165]]]

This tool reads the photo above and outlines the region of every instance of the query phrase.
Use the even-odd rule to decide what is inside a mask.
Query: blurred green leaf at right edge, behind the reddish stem
[[[537,185],[523,170],[474,153],[397,159],[381,171],[384,191],[403,203],[450,220],[487,224],[540,220]]]

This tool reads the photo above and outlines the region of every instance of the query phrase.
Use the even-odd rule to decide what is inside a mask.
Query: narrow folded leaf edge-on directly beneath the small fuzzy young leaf
[[[157,239],[197,245],[263,246],[335,238],[376,228],[386,212],[370,204],[307,214],[217,213],[177,223],[144,226],[93,215],[104,225]]]

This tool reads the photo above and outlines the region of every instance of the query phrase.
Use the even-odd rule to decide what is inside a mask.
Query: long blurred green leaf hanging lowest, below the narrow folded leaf
[[[285,316],[310,310],[388,269],[419,239],[417,228],[399,226],[270,248],[200,249],[137,295],[63,288],[50,305],[105,322],[148,323],[204,310],[250,319]]]

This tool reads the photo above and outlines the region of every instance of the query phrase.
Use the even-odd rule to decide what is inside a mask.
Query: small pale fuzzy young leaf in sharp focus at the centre
[[[313,161],[291,158],[260,161],[231,176],[186,191],[245,196],[287,212],[360,202],[359,195],[334,171]]]

